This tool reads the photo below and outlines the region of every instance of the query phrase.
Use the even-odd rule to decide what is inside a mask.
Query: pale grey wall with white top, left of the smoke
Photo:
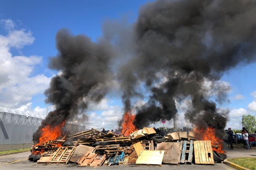
[[[45,117],[0,107],[0,150],[31,147],[32,135]]]

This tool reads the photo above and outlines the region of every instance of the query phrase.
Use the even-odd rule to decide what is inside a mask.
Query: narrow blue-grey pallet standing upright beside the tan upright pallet
[[[179,164],[191,164],[193,159],[193,141],[181,141],[180,142],[180,159]]]

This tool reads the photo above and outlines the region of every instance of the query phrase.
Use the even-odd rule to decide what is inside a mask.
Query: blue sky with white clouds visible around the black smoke
[[[133,23],[138,16],[140,6],[146,2],[148,1],[0,0],[0,20],[2,21],[0,25],[0,45],[4,44],[4,50],[11,54],[11,58],[8,59],[15,63],[11,68],[6,67],[6,69],[12,70],[6,75],[9,77],[15,75],[13,77],[20,77],[21,79],[17,82],[3,83],[2,86],[0,84],[0,94],[2,96],[5,96],[7,92],[9,95],[12,94],[8,99],[0,97],[0,105],[44,114],[46,105],[43,92],[48,87],[50,78],[57,74],[47,68],[48,57],[55,56],[57,53],[55,48],[56,32],[61,28],[68,28],[73,34],[86,34],[93,41],[96,41],[102,35],[101,27],[105,20],[126,18],[129,23]],[[6,20],[12,21],[14,26],[12,28],[8,27],[5,23]],[[20,36],[25,36],[25,39],[17,41],[22,45],[17,47],[17,45],[10,42],[1,44],[1,40],[4,42],[7,38],[10,38],[9,35],[14,34],[17,30],[20,31]],[[27,58],[29,58],[29,63],[24,62],[24,59]],[[28,69],[28,71],[26,72],[23,69]],[[25,74],[21,74],[22,71]],[[22,78],[23,76],[24,78]],[[239,65],[225,73],[221,78],[222,81],[231,86],[228,94],[230,102],[221,105],[221,107],[229,108],[231,111],[231,118],[227,126],[240,128],[239,121],[242,114],[251,113],[255,115],[256,93],[253,93],[256,91],[255,77],[256,63],[250,63],[249,65]],[[17,91],[23,91],[23,93],[19,92],[20,96],[18,96],[15,94]],[[53,109],[52,106],[50,109]],[[115,128],[116,121],[122,115],[120,96],[108,95],[99,105],[92,105],[88,114],[88,125]],[[180,126],[183,124],[184,121],[180,119]]]

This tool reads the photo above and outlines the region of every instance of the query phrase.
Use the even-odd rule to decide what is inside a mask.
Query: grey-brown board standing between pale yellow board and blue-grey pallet
[[[163,163],[178,164],[180,154],[179,142],[162,142],[157,144],[157,150],[164,150]]]

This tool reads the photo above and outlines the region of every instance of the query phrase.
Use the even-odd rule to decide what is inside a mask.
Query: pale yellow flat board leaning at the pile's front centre
[[[163,156],[164,150],[143,150],[138,157],[136,164],[161,165]]]

